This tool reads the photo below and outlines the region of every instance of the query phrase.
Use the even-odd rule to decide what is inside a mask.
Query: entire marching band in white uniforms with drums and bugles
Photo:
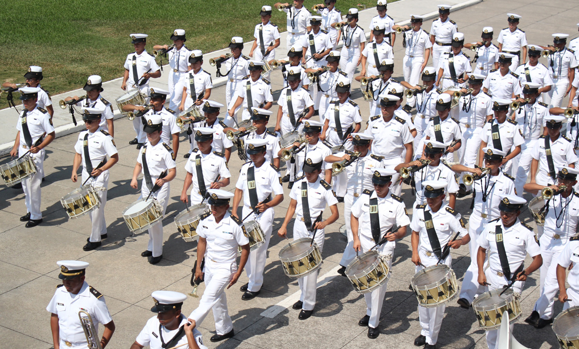
[[[452,301],[466,310],[472,307],[488,347],[499,347],[503,314],[510,320],[521,317],[523,285],[539,270],[540,297],[525,322],[534,328],[553,324],[562,348],[579,347],[573,337],[579,326],[579,271],[571,269],[579,263],[579,38],[567,47],[569,35],[553,34],[553,45],[530,45],[517,28],[521,16],[508,14],[498,47],[491,27],[482,28],[480,41],[465,43],[449,19],[450,6],[438,6],[439,19],[429,33],[420,16],[412,16],[410,25],[394,24],[386,1],[379,0],[367,42],[358,10],[343,16],[335,2],[313,6],[313,14],[302,0],[274,4],[287,13],[288,60],[276,60],[280,31],[270,21],[272,6],[263,6],[248,56],[242,53],[243,39],[234,36],[230,54],[209,60],[217,76],[227,78],[221,102],[211,99],[203,53],[185,46],[184,30],[173,32],[172,45],[153,46],[153,54],[145,49],[146,34],[130,35],[134,52],[124,62],[121,85],[127,93],[116,104],[133,121],[135,138],[129,144],[138,152],[130,186],[140,186],[141,196],[123,211],[123,219],[133,234],[148,230],[148,248],[141,256],[159,263],[162,219],[178,171],[179,134],[185,132],[190,147],[184,151],[188,160],[180,200],[186,209],[175,224],[186,241],[197,241],[191,295],[197,296],[197,286],[206,283],[199,307],[188,317],[181,312],[186,295],[153,292],[151,311],[157,315],[131,349],[205,348],[196,326],[211,310],[216,333],[210,340],[234,335],[225,289],[243,270],[249,282],[240,287],[241,299],[258,297],[267,282],[263,271],[273,207],[285,199],[283,183],[291,189],[290,205],[278,236],[287,238],[294,224],[293,240],[279,259],[284,273],[298,279],[301,297],[293,308],[301,310],[299,319],[315,309],[325,227],[339,218],[338,203],[343,203],[348,243],[338,273],[364,294],[367,309],[358,324],[368,327],[369,338],[380,333],[396,241],[409,235],[416,265],[410,288],[422,327],[415,346],[437,347],[445,307]],[[391,78],[397,35],[405,47],[402,81]],[[336,50],[340,42],[342,49]],[[463,53],[465,47],[474,53],[472,60]],[[168,90],[149,86],[149,79],[162,74],[156,58],[163,56],[170,67]],[[547,66],[538,63],[541,56]],[[354,76],[358,67],[360,75]],[[276,68],[285,83],[270,122],[269,77]],[[34,227],[42,222],[43,159],[55,133],[50,96],[40,86],[42,68],[30,67],[24,77],[25,86],[2,85],[10,102],[10,93],[20,92],[24,109],[10,152],[17,159],[3,164],[0,172],[6,185],[21,185],[27,214],[20,220]],[[369,115],[362,116],[350,99],[354,80],[361,83]],[[89,76],[83,89],[86,95],[59,103],[73,118],[75,107],[82,108],[86,125],[74,145],[71,175],[78,182],[82,165],[82,183],[61,203],[69,218],[89,215],[92,232],[83,250],[91,251],[107,238],[109,169],[119,155],[113,108],[101,97],[100,76]],[[567,95],[569,104],[562,108]],[[232,190],[228,163],[235,151],[247,162],[232,193],[223,189]],[[285,174],[280,174],[281,161]],[[412,187],[404,194],[415,196],[412,218],[402,200],[402,182]],[[534,195],[529,203],[524,192]],[[467,229],[456,199],[471,194]],[[537,230],[519,219],[526,207]],[[449,252],[465,245],[471,262],[460,284]],[[532,263],[525,266],[527,254]],[[85,280],[89,263],[57,264],[63,285],[46,308],[52,314],[54,348],[104,348],[115,325],[104,297]],[[565,306],[555,317],[557,299]],[[98,324],[105,327],[100,340]]]

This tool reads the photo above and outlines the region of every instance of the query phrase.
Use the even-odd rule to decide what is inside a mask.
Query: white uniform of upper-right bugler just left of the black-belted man
[[[420,28],[418,31],[409,30],[404,32],[403,40],[406,42],[404,58],[402,59],[402,74],[404,80],[412,86],[420,82],[422,64],[424,63],[424,51],[433,47],[428,32]]]

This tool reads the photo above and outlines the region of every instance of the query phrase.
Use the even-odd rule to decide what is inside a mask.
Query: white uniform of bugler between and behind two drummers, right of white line
[[[351,152],[347,152],[350,155]],[[335,156],[343,156],[345,153],[337,153]],[[350,166],[346,167],[346,177],[347,177],[347,193],[344,197],[344,216],[349,217],[351,213],[352,206],[356,203],[358,198],[364,192],[364,189],[372,190],[374,185],[372,184],[372,175],[376,168],[384,168],[383,157],[367,153],[364,157],[358,157]],[[350,219],[345,219],[346,223],[346,235],[348,238],[348,244],[344,249],[344,254],[340,260],[341,266],[347,266],[355,257],[356,251],[354,251],[354,237],[352,236],[352,229],[350,226]]]

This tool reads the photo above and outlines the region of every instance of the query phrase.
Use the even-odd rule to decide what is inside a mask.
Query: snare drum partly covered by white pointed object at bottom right
[[[477,315],[478,324],[485,330],[498,329],[503,320],[503,313],[508,312],[509,321],[515,321],[521,317],[521,302],[519,293],[507,289],[502,296],[503,288],[485,292],[472,301],[472,309]],[[555,329],[555,324],[553,326]]]

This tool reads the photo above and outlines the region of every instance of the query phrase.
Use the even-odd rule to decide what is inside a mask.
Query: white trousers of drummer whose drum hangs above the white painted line
[[[317,217],[312,217],[312,223],[316,220],[316,218]],[[302,237],[312,238],[312,234],[313,232],[310,233],[307,231],[305,223],[296,217],[294,221],[294,240]],[[316,245],[318,245],[321,254],[322,250],[324,249],[324,229],[317,230],[316,237],[314,237],[314,242]],[[320,269],[317,269],[312,274],[298,278],[299,289],[302,291],[302,295],[299,296],[299,300],[303,302],[303,310],[313,310],[316,306],[316,289],[319,272]]]

